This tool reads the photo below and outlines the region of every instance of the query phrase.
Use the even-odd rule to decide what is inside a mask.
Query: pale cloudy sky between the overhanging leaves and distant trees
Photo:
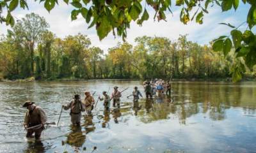
[[[122,38],[114,37],[112,32],[108,34],[104,40],[100,41],[95,27],[88,29],[84,18],[79,15],[77,20],[71,21],[70,12],[74,7],[69,4],[65,4],[63,1],[56,5],[51,13],[44,8],[44,3],[37,1],[28,1],[29,10],[22,10],[17,8],[12,11],[12,15],[15,20],[25,17],[27,13],[36,13],[45,18],[49,23],[49,30],[56,36],[65,38],[68,35],[75,35],[78,33],[86,34],[92,41],[92,46],[100,47],[104,52],[108,52],[108,48],[115,47],[118,42],[122,42]],[[143,25],[137,25],[136,22],[131,22],[130,29],[127,30],[127,42],[132,45],[136,45],[134,39],[139,36],[163,36],[169,38],[171,41],[177,40],[179,35],[188,34],[188,40],[200,43],[201,45],[209,44],[209,41],[218,38],[222,35],[230,35],[231,28],[227,25],[221,25],[221,22],[230,23],[238,26],[246,21],[246,15],[250,7],[240,2],[236,11],[234,9],[230,11],[221,12],[220,6],[214,6],[211,8],[209,4],[209,14],[204,17],[204,24],[196,24],[195,21],[189,22],[187,25],[182,24],[179,20],[180,9],[172,6],[173,15],[168,13],[166,15],[167,22],[164,20],[157,22],[154,21],[154,10],[147,6],[150,18],[143,22]],[[191,16],[193,13],[191,13]],[[0,34],[6,34],[7,29],[11,29],[10,26],[0,24]],[[247,25],[242,25],[239,29],[246,29]]]

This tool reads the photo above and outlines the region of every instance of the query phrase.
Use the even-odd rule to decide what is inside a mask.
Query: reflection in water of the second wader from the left
[[[71,132],[67,136],[67,143],[77,150],[77,148],[82,147],[85,138],[86,135],[83,135],[81,126],[71,126]]]

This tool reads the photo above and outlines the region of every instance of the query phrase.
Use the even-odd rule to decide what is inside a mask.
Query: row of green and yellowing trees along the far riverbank
[[[17,21],[0,38],[0,74],[4,78],[227,78],[240,80],[253,71],[233,73],[237,66],[234,50],[228,55],[214,52],[180,36],[177,41],[143,36],[136,45],[124,42],[104,54],[92,47],[84,34],[57,38],[43,17],[31,13]],[[246,68],[244,68],[246,69]]]

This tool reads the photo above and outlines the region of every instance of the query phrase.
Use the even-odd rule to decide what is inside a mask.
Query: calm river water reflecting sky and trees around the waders
[[[256,152],[256,82],[173,82],[171,98],[145,99],[140,81],[1,82],[0,152]],[[42,141],[25,138],[22,126],[31,100],[48,122],[57,122],[61,105],[74,93],[98,94],[125,89],[120,110],[104,112],[99,101],[93,116],[83,113],[81,128],[70,125],[63,111],[58,127],[42,133]],[[134,86],[139,103],[127,98]]]

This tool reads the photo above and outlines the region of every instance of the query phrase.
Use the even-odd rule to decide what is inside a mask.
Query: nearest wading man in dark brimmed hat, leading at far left
[[[24,119],[24,128],[27,129],[26,137],[33,138],[33,133],[35,133],[36,140],[40,139],[41,133],[44,130],[44,124],[47,120],[44,110],[31,101],[26,101],[22,107],[28,109]]]

